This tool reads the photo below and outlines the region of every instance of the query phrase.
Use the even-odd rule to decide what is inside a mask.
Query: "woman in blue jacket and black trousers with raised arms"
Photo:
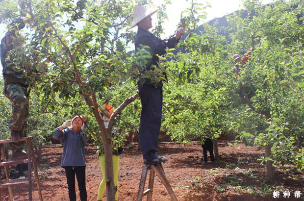
[[[81,117],[81,119],[80,119]],[[89,137],[82,132],[83,122],[86,117],[80,115],[68,120],[57,127],[54,137],[63,144],[61,158],[61,167],[65,169],[69,189],[70,201],[76,201],[75,175],[78,182],[80,200],[87,200],[87,191],[85,187],[85,150],[84,145]],[[70,126],[69,128],[67,128]],[[66,129],[65,129],[66,128]]]

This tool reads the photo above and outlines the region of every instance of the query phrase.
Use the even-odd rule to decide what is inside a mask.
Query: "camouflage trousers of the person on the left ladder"
[[[18,133],[20,137],[26,137],[29,98],[27,87],[19,83],[5,84],[4,95],[12,102],[12,116],[9,124],[11,133]],[[9,148],[13,152],[21,151],[23,147],[24,142],[9,144]]]

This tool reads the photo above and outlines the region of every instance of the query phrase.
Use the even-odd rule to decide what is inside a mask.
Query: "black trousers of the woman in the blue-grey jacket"
[[[87,190],[85,188],[85,167],[84,166],[65,166],[65,174],[68,181],[69,198],[70,201],[76,201],[75,192],[75,174],[77,178],[80,200],[87,200]]]

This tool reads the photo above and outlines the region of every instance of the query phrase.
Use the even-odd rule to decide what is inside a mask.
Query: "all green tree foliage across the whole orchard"
[[[149,54],[144,50],[134,57],[128,53],[135,32],[125,30],[135,3],[151,1],[8,2],[0,4],[2,22],[9,24],[19,16],[29,19],[23,32],[25,50],[31,52],[26,62],[32,67],[33,101],[39,100],[46,108],[42,119],[51,118],[58,110],[62,112],[60,120],[50,119],[54,124],[75,113],[86,114],[89,120],[96,120],[88,122],[89,130],[101,132],[106,140],[110,136],[104,134],[98,109],[108,98],[117,108],[136,93],[141,61]],[[157,35],[162,34],[168,4],[170,1],[157,13]],[[217,138],[233,131],[246,145],[270,145],[272,154],[263,159],[294,163],[303,170],[303,2],[275,1],[264,7],[259,0],[245,0],[244,5],[247,11],[227,17],[228,36],[210,25],[204,25],[202,33],[194,33],[206,7],[196,1],[182,14],[190,34],[179,43],[175,54],[168,50],[155,69],[159,75],[169,75],[162,126],[172,139],[182,142]],[[231,56],[252,46],[252,56],[236,80]],[[46,70],[42,61],[47,57],[51,64]],[[242,86],[251,87],[251,99],[237,94]],[[7,108],[0,108],[9,114]],[[137,100],[116,119],[116,126],[138,127],[139,111]]]

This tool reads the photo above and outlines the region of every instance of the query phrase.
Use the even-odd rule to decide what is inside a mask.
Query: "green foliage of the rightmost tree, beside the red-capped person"
[[[295,3],[299,6],[291,9]],[[255,16],[242,19],[234,15],[228,19],[229,27],[235,30],[230,34],[229,48],[246,50],[248,46],[242,44],[254,45],[250,62],[242,70],[238,82],[253,85],[255,92],[247,102],[250,109],[244,107],[247,113],[232,121],[231,129],[255,145],[271,145],[269,160],[301,164],[303,161],[296,159],[303,146],[304,126],[303,112],[298,109],[303,107],[300,87],[303,85],[303,43],[299,38],[303,38],[304,29],[297,18],[301,2],[277,1],[265,9],[249,3],[245,5],[249,11],[254,9]]]

